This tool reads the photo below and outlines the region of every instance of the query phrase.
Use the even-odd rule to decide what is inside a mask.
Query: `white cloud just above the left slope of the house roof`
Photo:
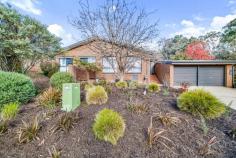
[[[66,32],[61,25],[52,24],[48,26],[48,31],[60,37],[64,46],[74,43],[76,40],[72,34]]]

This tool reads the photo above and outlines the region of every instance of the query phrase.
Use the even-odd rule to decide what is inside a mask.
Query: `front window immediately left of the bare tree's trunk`
[[[114,57],[103,57],[102,58],[103,72],[114,73],[117,69],[116,59]]]

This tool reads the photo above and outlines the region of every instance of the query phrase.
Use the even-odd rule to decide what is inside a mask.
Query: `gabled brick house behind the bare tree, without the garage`
[[[80,59],[83,62],[96,63],[102,66],[102,71],[96,73],[95,77],[90,79],[105,79],[107,81],[115,81],[116,76],[112,66],[106,59],[100,56],[96,51],[93,51],[89,44],[94,40],[87,40],[72,44],[65,48],[62,53],[56,56],[56,61],[60,64],[61,72],[70,72],[74,76],[76,71],[73,71],[73,60]],[[158,82],[158,79],[153,71],[153,62],[151,62],[152,54],[142,49],[135,50],[136,53],[142,53],[142,57],[137,57],[134,67],[129,70],[124,76],[125,80],[136,80],[139,83]],[[83,75],[83,74],[80,74]],[[93,75],[94,76],[94,75]]]

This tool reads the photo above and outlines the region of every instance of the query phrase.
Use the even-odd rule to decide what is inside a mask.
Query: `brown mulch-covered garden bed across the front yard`
[[[204,135],[199,118],[178,110],[177,95],[175,90],[171,90],[168,96],[164,96],[162,92],[148,93],[144,96],[143,89],[125,91],[113,89],[105,105],[88,106],[83,101],[74,112],[80,117],[74,127],[69,132],[58,130],[54,133],[51,132],[52,128],[65,112],[59,107],[49,110],[37,106],[36,102],[31,102],[22,106],[20,113],[11,121],[7,133],[0,136],[0,157],[45,158],[49,156],[48,150],[53,146],[61,151],[61,157],[66,158],[236,157],[236,141],[227,134],[232,127],[236,127],[236,112],[232,111],[227,117],[208,121],[209,132]],[[130,100],[145,105],[148,110],[140,114],[131,112],[127,108]],[[92,132],[95,115],[103,108],[113,109],[125,119],[125,135],[119,139],[116,146],[97,140]],[[160,120],[154,119],[153,126],[165,129],[163,136],[171,142],[157,141],[150,148],[147,143],[147,128],[150,117],[155,113],[173,113],[172,115],[177,116],[181,122],[176,126],[164,127]],[[19,144],[16,131],[22,125],[21,120],[31,121],[36,115],[41,118],[39,139]],[[211,146],[211,153],[200,155],[200,148],[214,136],[216,143]]]

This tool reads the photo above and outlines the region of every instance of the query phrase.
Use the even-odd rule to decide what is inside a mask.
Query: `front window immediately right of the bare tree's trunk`
[[[142,62],[139,57],[128,57],[127,72],[128,73],[141,73]]]

